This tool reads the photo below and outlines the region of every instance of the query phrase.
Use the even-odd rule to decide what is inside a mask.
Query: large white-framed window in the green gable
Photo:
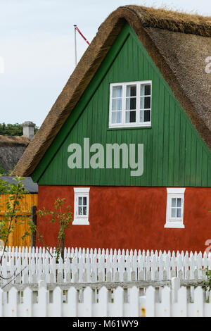
[[[110,84],[108,127],[150,127],[152,81]]]

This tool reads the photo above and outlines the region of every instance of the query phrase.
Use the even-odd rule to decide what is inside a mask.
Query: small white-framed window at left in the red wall
[[[89,225],[89,187],[74,188],[74,220],[72,225]]]

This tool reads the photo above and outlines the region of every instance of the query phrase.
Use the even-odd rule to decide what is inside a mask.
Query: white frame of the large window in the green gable
[[[119,82],[110,84],[110,101],[109,101],[109,128],[118,128],[118,127],[151,127],[151,120],[149,122],[140,122],[140,100],[141,100],[141,85],[150,84],[151,85],[151,108],[146,109],[151,111],[151,120],[152,120],[152,81],[151,80],[141,80],[139,82]],[[136,122],[126,123],[126,91],[127,85],[136,85]],[[122,86],[122,123],[112,123],[112,101],[113,101],[113,87]],[[118,99],[118,98],[117,98]],[[120,99],[120,98],[119,98]]]

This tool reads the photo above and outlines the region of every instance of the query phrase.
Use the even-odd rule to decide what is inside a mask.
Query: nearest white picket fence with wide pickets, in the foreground
[[[50,291],[40,282],[36,292],[30,287],[0,289],[0,316],[211,317],[210,293],[206,295],[201,287],[193,289],[192,297],[188,292],[180,287],[179,278],[172,280],[172,287],[148,287],[143,296],[138,287],[101,287],[96,292],[91,287],[64,291],[57,286]]]

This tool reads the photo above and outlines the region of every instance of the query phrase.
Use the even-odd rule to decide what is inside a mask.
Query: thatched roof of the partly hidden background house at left
[[[7,173],[15,168],[30,140],[26,137],[0,135],[0,165]]]

